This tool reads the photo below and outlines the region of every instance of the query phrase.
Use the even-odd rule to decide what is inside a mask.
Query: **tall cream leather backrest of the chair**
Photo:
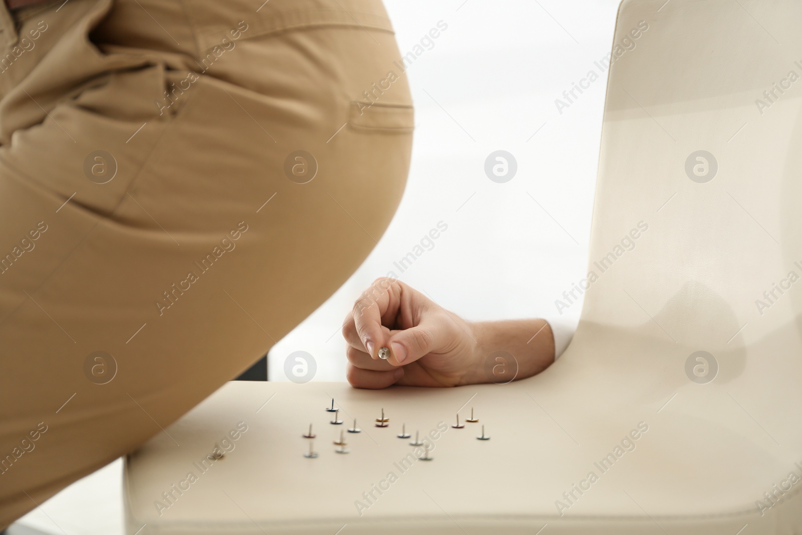
[[[800,22],[796,0],[622,2],[566,361],[800,390]]]

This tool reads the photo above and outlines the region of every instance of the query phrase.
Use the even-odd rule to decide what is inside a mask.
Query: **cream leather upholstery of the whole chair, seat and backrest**
[[[130,456],[128,533],[802,533],[800,21],[796,0],[622,3],[595,277],[547,371],[449,390],[230,383]],[[480,423],[451,428],[471,407]],[[354,417],[365,431],[338,455]],[[401,470],[401,424],[414,438],[441,421],[434,459]]]

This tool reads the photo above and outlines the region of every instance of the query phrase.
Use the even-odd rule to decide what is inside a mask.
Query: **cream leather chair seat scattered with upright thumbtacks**
[[[633,355],[674,351],[655,340],[625,345]],[[631,357],[612,363],[630,364],[615,379],[576,360],[565,355],[514,383],[443,390],[228,383],[128,458],[128,533],[146,525],[143,535],[332,534],[347,525],[344,533],[531,534],[547,524],[549,533],[733,535],[744,525],[748,533],[796,533],[788,526],[802,520],[802,482],[784,484],[790,490],[777,505],[764,492],[789,472],[802,477],[802,457],[788,453],[794,441],[800,451],[798,432],[777,433],[784,446],[776,444],[739,405],[747,402],[727,393],[736,385],[691,383],[682,371],[650,383]],[[343,424],[330,424],[332,397]],[[375,427],[382,408],[386,428]],[[466,423],[472,408],[480,421]],[[458,410],[464,428],[451,427]],[[354,418],[363,432],[346,432],[350,453],[335,452]],[[201,460],[239,422],[247,431],[201,472]],[[310,423],[317,458],[303,455]],[[410,439],[397,437],[402,424]],[[483,424],[490,440],[476,439]],[[771,418],[762,425],[776,429]],[[408,456],[417,431],[437,437],[430,461]],[[172,490],[188,472],[196,481]],[[172,503],[162,494],[171,490]]]

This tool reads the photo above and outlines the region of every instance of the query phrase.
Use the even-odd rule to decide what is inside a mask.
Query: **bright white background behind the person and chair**
[[[554,300],[586,271],[606,75],[562,115],[554,100],[610,51],[618,0],[385,4],[402,55],[437,22],[448,24],[406,73],[416,124],[407,191],[367,261],[270,351],[271,380],[286,380],[284,360],[298,350],[314,355],[314,380],[345,380],[342,318],[389,270],[468,319],[559,318]],[[484,174],[496,150],[517,160],[506,184]],[[448,230],[435,247],[395,270],[438,221]],[[576,321],[580,308],[561,318]],[[22,522],[54,534],[121,535],[120,468],[117,460],[78,481]]]

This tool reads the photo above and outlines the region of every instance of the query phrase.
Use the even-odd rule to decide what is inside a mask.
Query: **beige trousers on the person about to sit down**
[[[413,114],[380,0],[58,0],[0,25],[2,529],[354,272]]]

